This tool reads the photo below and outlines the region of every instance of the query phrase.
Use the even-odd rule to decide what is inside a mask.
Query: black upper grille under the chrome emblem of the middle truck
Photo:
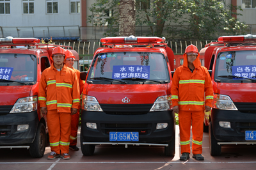
[[[153,104],[100,104],[106,114],[136,115],[147,114]]]

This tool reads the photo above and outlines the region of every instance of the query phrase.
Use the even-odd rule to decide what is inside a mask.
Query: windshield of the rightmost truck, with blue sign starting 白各
[[[214,79],[221,82],[256,82],[256,51],[221,52]]]

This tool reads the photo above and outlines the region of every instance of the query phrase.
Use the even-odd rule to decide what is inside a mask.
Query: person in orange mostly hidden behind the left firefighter
[[[74,60],[76,59],[74,54],[70,50],[65,50],[65,55],[67,56],[65,59],[65,63],[69,68],[72,68],[76,72],[77,75],[77,81],[79,83],[79,89],[80,89],[80,95],[83,92],[84,89],[84,82],[80,79],[80,72],[76,68],[73,67]],[[69,148],[74,151],[78,151],[79,148],[77,148],[77,129],[79,124],[79,110],[81,108],[81,105],[79,105],[78,111],[76,114],[73,114],[71,116],[71,134],[70,134],[70,144]]]

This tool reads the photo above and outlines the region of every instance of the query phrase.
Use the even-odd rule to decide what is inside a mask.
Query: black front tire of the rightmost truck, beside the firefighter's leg
[[[209,123],[209,145],[210,153],[212,156],[221,155],[221,145],[218,144],[218,141],[213,135],[212,122]]]

